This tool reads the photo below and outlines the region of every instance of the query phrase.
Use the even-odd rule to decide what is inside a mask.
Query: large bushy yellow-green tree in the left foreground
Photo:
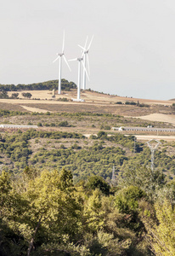
[[[69,172],[36,173],[25,167],[12,188],[8,174],[3,172],[0,176],[0,243],[7,240],[8,255],[27,251],[29,256],[34,247],[37,249],[49,241],[59,243],[64,236],[68,236],[69,241],[79,236],[81,207],[74,190],[67,193],[72,186]]]

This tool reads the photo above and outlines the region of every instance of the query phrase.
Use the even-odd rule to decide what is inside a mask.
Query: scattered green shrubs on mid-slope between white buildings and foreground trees
[[[32,140],[32,147],[37,146],[37,151],[31,150],[31,139],[35,139]],[[66,144],[67,140],[69,143]],[[164,149],[155,151],[155,169],[159,168],[172,179],[175,158]],[[4,170],[11,168],[11,171],[19,172],[29,164],[40,169],[57,168],[59,171],[65,167],[73,172],[76,182],[92,174],[110,181],[113,165],[120,176],[127,169],[135,172],[137,166],[150,166],[151,159],[150,148],[142,143],[135,143],[134,147],[133,136],[108,136],[104,131],[99,131],[97,136],[91,136],[88,140],[82,134],[60,131],[28,130],[3,134],[0,153],[8,160],[1,160]]]

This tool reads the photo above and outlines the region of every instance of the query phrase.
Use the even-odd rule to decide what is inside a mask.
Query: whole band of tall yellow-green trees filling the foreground
[[[140,166],[124,176],[110,186],[75,184],[66,169],[2,172],[0,254],[174,255],[175,183]]]

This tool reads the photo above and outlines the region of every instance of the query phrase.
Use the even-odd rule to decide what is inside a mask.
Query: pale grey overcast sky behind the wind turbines
[[[88,43],[87,87],[118,96],[175,97],[173,0],[0,0],[0,84],[59,79],[65,57]],[[64,61],[62,78],[77,84],[78,67]]]

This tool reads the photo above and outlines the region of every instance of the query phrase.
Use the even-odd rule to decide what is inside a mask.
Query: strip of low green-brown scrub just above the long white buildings
[[[25,115],[24,117],[20,117]],[[12,118],[15,116],[16,118]],[[96,127],[99,130],[110,130],[113,126],[140,126],[147,127],[151,125],[157,128],[173,128],[172,124],[164,122],[147,121],[144,119],[136,119],[123,117],[119,114],[112,113],[93,113],[93,112],[79,112],[79,113],[68,113],[68,112],[47,112],[47,113],[27,113],[24,111],[12,111],[12,110],[1,110],[0,109],[1,124],[17,124],[17,125],[28,125],[30,122],[32,125],[41,123],[42,126],[59,126],[59,121],[67,121],[69,125],[73,126],[84,126]],[[11,117],[11,118],[10,118]],[[46,125],[47,124],[47,125]]]

